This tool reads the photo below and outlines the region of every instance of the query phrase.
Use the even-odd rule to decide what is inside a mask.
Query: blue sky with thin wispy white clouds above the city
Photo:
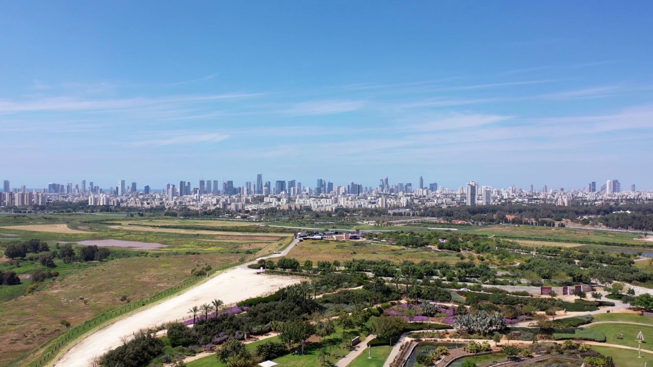
[[[650,1],[5,1],[0,180],[653,189]]]

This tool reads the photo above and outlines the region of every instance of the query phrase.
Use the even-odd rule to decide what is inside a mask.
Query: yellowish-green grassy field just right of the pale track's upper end
[[[291,249],[288,257],[298,259],[300,263],[306,260],[316,261],[345,261],[352,259],[366,260],[391,260],[391,261],[446,261],[456,263],[460,261],[451,252],[432,251],[428,248],[409,248],[374,244],[362,241],[330,241],[330,240],[305,240]]]

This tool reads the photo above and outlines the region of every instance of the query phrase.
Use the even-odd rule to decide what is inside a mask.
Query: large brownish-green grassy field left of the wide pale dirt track
[[[69,271],[48,280],[39,291],[0,307],[0,365],[24,353],[33,353],[41,343],[63,332],[61,320],[78,325],[125,304],[127,301],[120,300],[122,296],[132,301],[147,298],[189,278],[193,268],[234,263],[239,257],[217,253],[131,257]]]

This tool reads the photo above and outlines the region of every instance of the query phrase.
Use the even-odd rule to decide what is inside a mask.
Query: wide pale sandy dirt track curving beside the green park
[[[269,257],[287,255],[296,242],[296,240],[293,241],[280,254]],[[56,361],[54,366],[91,366],[93,360],[97,359],[97,357],[121,345],[124,338],[131,338],[134,333],[141,329],[147,329],[176,319],[183,319],[183,317],[188,316],[188,309],[193,306],[204,303],[210,304],[215,298],[222,300],[225,304],[232,304],[270,291],[276,291],[280,287],[298,283],[299,281],[298,278],[289,276],[257,275],[255,269],[247,268],[248,264],[255,262],[218,273],[204,281],[204,283],[197,285],[197,287],[153,304],[142,311],[133,313],[97,330],[74,344],[69,351]]]

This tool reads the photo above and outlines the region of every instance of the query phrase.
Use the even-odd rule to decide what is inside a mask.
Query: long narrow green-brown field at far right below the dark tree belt
[[[515,240],[544,240],[545,242],[613,242],[635,246],[645,246],[646,242],[633,239],[628,232],[592,231],[590,229],[571,229],[542,227],[537,225],[496,225],[492,227],[460,229],[460,231],[485,234]]]

